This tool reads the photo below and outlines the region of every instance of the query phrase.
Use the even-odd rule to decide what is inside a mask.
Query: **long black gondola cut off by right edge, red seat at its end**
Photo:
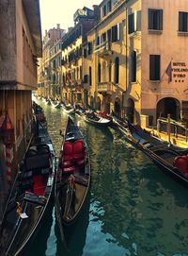
[[[142,150],[149,158],[161,167],[174,179],[188,185],[188,156],[187,150],[179,151],[177,147],[171,147],[150,136],[149,132],[133,126],[129,121],[126,134],[127,140]]]

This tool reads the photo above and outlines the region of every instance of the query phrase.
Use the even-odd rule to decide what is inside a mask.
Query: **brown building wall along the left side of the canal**
[[[0,115],[8,113],[14,128],[13,178],[13,163],[17,170],[31,137],[31,91],[37,88],[42,54],[39,1],[2,0],[0,13]],[[0,161],[5,168],[6,149],[0,137]]]

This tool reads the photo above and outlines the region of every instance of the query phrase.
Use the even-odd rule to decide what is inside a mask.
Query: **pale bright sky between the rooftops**
[[[42,33],[45,29],[56,27],[67,29],[73,26],[73,14],[77,9],[84,7],[92,9],[93,5],[99,5],[102,0],[40,0],[40,15]]]

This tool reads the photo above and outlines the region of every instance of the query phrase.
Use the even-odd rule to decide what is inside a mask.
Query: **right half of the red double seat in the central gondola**
[[[77,140],[73,144],[73,159],[78,165],[82,165],[85,162],[86,150],[82,140]]]

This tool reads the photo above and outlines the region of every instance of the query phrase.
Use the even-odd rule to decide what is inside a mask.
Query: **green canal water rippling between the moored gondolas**
[[[44,109],[56,155],[68,115]],[[55,210],[25,256],[188,256],[188,190],[113,128],[75,116],[86,136],[92,182],[85,208],[61,242]]]

